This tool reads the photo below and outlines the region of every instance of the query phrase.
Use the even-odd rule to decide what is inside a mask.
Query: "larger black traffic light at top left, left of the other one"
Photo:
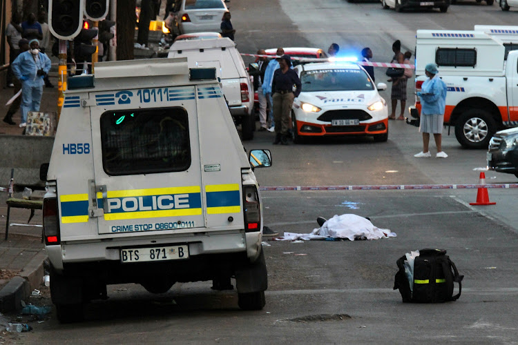
[[[81,30],[84,0],[49,0],[48,28],[58,39],[73,39]]]

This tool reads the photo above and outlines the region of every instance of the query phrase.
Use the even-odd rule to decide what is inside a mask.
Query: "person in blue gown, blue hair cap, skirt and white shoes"
[[[428,150],[430,133],[434,135],[435,146],[437,146],[437,158],[446,158],[446,152],[441,146],[444,110],[446,108],[446,93],[448,88],[444,81],[439,77],[439,70],[435,63],[428,63],[425,66],[426,79],[421,86],[421,91],[417,96],[421,98],[421,121],[419,132],[423,133],[423,150],[414,155],[416,158],[432,157]]]

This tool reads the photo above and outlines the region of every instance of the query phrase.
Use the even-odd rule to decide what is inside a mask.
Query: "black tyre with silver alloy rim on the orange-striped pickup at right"
[[[455,124],[455,137],[466,148],[488,148],[496,131],[495,119],[486,110],[467,110]]]

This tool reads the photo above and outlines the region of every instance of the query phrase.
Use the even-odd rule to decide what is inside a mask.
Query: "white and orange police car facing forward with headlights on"
[[[356,63],[308,63],[295,68],[302,92],[294,100],[294,143],[311,137],[368,135],[387,141],[387,103]]]

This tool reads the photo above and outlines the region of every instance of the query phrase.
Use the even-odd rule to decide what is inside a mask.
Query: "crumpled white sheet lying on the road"
[[[396,237],[389,229],[381,229],[372,224],[369,219],[353,215],[335,215],[328,219],[323,226],[314,229],[309,234],[284,233],[284,237],[278,237],[280,241],[294,241],[295,239],[326,239],[342,238],[354,241],[354,239],[381,239]]]

